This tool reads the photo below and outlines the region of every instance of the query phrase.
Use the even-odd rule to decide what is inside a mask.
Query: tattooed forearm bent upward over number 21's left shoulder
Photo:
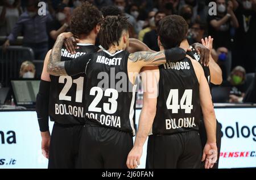
[[[65,70],[65,62],[61,60],[61,48],[63,47],[64,40],[73,36],[70,32],[60,34],[52,48],[52,52],[49,56],[47,65],[47,72],[53,76],[64,76],[67,75]]]

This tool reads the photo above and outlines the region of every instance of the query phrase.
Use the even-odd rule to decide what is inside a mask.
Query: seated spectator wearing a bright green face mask
[[[230,87],[229,102],[230,103],[241,103],[245,96],[246,87],[246,72],[242,66],[234,68],[228,78],[228,81],[223,83],[223,86]]]

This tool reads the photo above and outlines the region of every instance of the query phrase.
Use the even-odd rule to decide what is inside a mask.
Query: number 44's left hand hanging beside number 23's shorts
[[[129,169],[138,168],[142,156],[142,147],[134,146],[128,154],[126,165]]]

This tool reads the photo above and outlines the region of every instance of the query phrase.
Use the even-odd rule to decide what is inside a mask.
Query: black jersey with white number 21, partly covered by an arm
[[[75,55],[61,49],[61,61],[72,61],[86,53],[97,52],[93,44],[78,43]],[[85,73],[76,76],[50,76],[49,116],[59,124],[82,124],[84,122]]]

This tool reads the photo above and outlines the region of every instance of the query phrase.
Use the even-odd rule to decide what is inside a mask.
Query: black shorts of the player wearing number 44
[[[201,158],[201,140],[197,131],[148,137],[147,169],[200,169]]]

